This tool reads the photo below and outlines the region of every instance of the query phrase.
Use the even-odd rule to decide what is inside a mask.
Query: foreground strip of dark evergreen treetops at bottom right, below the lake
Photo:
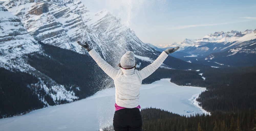
[[[256,111],[196,114],[189,117],[156,108],[141,111],[146,131],[250,131],[256,128]]]

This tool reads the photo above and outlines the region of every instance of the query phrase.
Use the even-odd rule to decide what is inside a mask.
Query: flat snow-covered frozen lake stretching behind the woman
[[[195,98],[205,88],[178,86],[170,79],[141,85],[140,105],[168,110],[180,115],[206,113]],[[86,99],[50,106],[26,115],[0,119],[0,131],[95,131],[113,124],[115,89],[105,89]]]

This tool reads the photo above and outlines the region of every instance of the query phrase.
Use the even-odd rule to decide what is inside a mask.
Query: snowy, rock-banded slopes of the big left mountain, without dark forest
[[[51,91],[55,92],[51,95],[53,100],[60,98],[73,101],[78,97],[28,64],[25,54],[41,52],[47,56],[37,40],[82,54],[87,54],[87,51],[76,41],[90,41],[93,48],[112,65],[119,63],[122,56],[119,54],[127,50],[134,51],[138,59],[146,55],[151,58],[159,55],[158,51],[141,42],[134,31],[124,26],[110,12],[102,10],[96,14],[90,13],[79,0],[9,0],[1,4],[1,67],[27,72],[47,80],[54,90]],[[47,88],[43,80],[40,83],[46,93],[51,94],[51,88]]]

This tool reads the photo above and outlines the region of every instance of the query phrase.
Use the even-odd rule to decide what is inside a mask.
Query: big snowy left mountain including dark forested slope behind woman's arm
[[[77,40],[88,41],[102,58],[117,69],[122,54],[128,50],[135,53],[138,68],[153,62],[161,53],[143,43],[133,30],[108,10],[91,13],[80,0],[5,0],[0,5],[0,67],[37,77],[39,82],[31,87],[45,92],[37,95],[46,106],[52,102],[60,104],[61,100],[71,102],[88,97],[102,89],[99,87],[101,83],[108,84],[101,85],[104,88],[111,86],[109,78],[103,75],[90,57],[86,57],[87,51],[77,44]],[[66,58],[63,58],[65,55]],[[172,60],[176,62],[169,62]],[[182,60],[167,57],[161,67],[191,69],[192,66]],[[76,78],[76,68],[73,67],[81,70],[81,78]],[[69,74],[63,74],[63,71]],[[82,78],[87,78],[87,82],[82,83]],[[81,79],[80,83],[75,79]],[[89,80],[98,86],[93,86]],[[46,99],[46,95],[50,96],[52,102]]]

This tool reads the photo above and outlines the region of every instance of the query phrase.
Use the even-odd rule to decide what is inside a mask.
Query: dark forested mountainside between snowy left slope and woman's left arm
[[[111,81],[107,81],[111,78],[90,56],[41,42],[40,44],[44,52],[28,54],[28,63],[57,83],[64,85],[67,91],[73,91],[79,99],[91,96],[106,88],[106,85],[112,84]]]

